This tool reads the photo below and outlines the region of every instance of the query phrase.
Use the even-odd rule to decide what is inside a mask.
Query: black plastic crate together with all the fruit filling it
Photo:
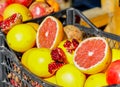
[[[120,83],[120,36],[97,29],[74,8],[26,21],[20,18],[14,13],[0,25],[0,87]]]

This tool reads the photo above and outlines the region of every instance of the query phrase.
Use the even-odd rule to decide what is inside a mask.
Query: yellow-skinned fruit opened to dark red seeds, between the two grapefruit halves
[[[73,56],[74,56],[74,51],[79,45],[79,42],[76,39],[66,39],[60,42],[58,45],[58,48],[61,48],[65,54],[65,58],[70,64],[73,63]]]

